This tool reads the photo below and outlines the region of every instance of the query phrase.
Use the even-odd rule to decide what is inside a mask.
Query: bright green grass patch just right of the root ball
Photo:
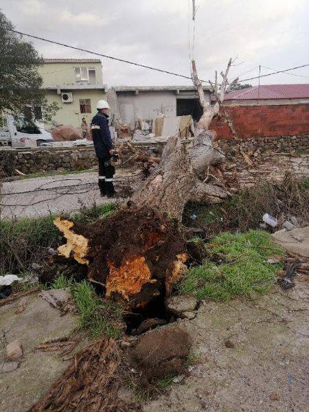
[[[209,259],[188,271],[179,293],[215,301],[251,299],[270,290],[276,271],[282,268],[282,264],[264,263],[271,254],[283,254],[265,231],[221,233],[211,239],[208,250]],[[212,262],[211,255],[219,256],[222,264]]]

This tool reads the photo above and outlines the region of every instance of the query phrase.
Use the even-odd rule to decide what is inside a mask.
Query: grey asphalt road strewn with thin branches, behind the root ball
[[[118,171],[115,175],[116,190],[119,185],[129,185],[132,177],[124,170]],[[0,212],[1,218],[20,219],[73,211],[110,201],[100,197],[97,172],[86,172],[4,182]]]

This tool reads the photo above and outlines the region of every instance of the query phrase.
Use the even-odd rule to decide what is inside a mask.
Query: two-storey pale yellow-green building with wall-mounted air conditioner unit
[[[98,100],[106,99],[101,60],[45,58],[39,72],[47,102],[57,102],[60,107],[53,124],[79,128],[82,117],[90,124]],[[45,124],[45,128],[52,128],[53,124]]]

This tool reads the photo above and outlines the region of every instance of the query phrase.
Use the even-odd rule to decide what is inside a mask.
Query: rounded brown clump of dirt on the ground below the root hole
[[[129,358],[143,378],[165,378],[170,374],[181,374],[190,352],[190,337],[178,325],[168,325],[141,336],[130,350]]]

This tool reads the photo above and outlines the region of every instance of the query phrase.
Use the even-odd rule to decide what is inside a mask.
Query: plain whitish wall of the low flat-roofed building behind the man
[[[134,126],[138,117],[155,119],[159,113],[176,116],[176,93],[174,91],[117,92],[122,122]]]

